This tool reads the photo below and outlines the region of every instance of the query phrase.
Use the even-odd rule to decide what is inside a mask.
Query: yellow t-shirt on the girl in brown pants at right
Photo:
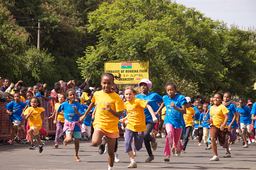
[[[215,105],[212,106],[210,109],[210,115],[212,116],[212,125],[220,128],[220,124],[223,124],[225,120],[224,114],[228,112],[228,109],[223,104],[220,104],[218,107],[215,107]],[[224,128],[227,128],[227,124]]]

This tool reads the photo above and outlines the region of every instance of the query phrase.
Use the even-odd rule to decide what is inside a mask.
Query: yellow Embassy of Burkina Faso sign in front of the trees
[[[149,79],[148,61],[105,62],[105,73],[112,73],[116,84],[139,84]]]

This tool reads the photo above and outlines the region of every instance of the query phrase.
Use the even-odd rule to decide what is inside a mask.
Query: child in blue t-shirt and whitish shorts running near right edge
[[[245,132],[245,128],[247,130],[247,135],[250,136],[250,132],[251,132],[251,115],[250,115],[250,108],[248,106],[245,106],[245,100],[244,99],[239,99],[239,103],[240,103],[240,108],[237,108],[236,111],[238,112],[238,114],[240,114],[240,128],[243,134],[243,144],[244,146],[242,146],[243,148],[247,148],[248,143],[246,140],[246,132]]]

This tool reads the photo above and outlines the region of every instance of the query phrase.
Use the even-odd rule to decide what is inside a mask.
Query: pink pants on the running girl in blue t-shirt
[[[164,155],[170,155],[170,150],[172,150],[173,142],[175,146],[175,150],[182,150],[182,143],[181,143],[181,134],[182,128],[176,129],[172,124],[165,124],[165,129],[167,132],[166,140],[165,140],[165,149]]]

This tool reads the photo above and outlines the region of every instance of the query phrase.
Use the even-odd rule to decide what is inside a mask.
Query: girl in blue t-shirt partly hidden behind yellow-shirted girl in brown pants
[[[234,142],[236,140],[236,127],[238,127],[238,124],[236,122],[237,112],[236,107],[234,104],[234,101],[231,100],[231,93],[225,92],[223,95],[223,102],[222,104],[226,106],[228,109],[228,121],[227,121],[227,135],[226,142],[223,145],[223,148],[226,148],[227,153],[223,157],[231,157],[230,151],[229,151],[229,145],[231,142]]]

